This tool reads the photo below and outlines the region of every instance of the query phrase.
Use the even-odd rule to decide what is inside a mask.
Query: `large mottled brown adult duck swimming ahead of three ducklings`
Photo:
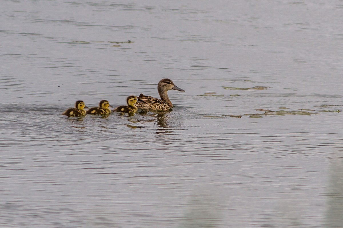
[[[157,85],[157,91],[161,99],[140,94],[138,97],[139,103],[136,104],[137,108],[156,111],[169,111],[171,108],[173,108],[173,104],[168,97],[168,90],[185,92],[185,90],[178,88],[173,81],[168,78],[164,78],[159,81]]]

